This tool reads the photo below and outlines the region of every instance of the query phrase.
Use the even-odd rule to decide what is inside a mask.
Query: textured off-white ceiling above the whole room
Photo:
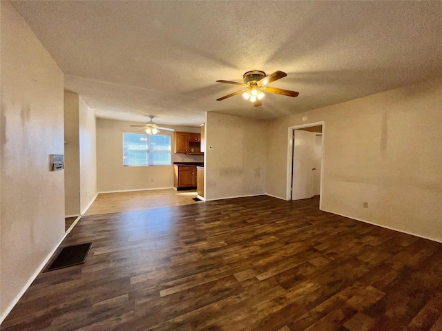
[[[198,126],[273,119],[442,75],[442,1],[13,1],[98,117]],[[288,76],[254,108],[218,97]]]

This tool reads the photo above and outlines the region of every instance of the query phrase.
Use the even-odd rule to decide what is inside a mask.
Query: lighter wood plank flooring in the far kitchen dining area
[[[192,200],[196,196],[197,192],[195,190],[175,191],[173,188],[165,190],[100,193],[86,211],[86,215],[127,212],[129,210],[146,210],[170,207],[173,205],[190,205],[192,203],[198,203]]]

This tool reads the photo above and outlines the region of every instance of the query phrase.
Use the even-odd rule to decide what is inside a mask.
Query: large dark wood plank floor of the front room
[[[83,217],[1,330],[442,330],[442,244],[250,197]],[[419,220],[416,220],[419,221]]]

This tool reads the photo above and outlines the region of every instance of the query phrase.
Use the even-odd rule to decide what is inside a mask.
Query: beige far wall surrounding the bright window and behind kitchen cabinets
[[[126,121],[97,119],[97,186],[99,192],[117,190],[144,190],[173,187],[173,165],[123,166],[123,132],[131,132]],[[177,127],[176,131],[200,132],[200,128]],[[140,132],[140,131],[138,131]],[[173,132],[162,130],[171,136],[173,162],[202,162],[202,156],[186,156],[173,153]]]

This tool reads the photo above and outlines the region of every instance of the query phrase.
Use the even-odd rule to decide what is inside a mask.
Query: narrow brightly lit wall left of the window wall
[[[86,212],[97,194],[97,129],[95,114],[79,97],[80,210]]]

